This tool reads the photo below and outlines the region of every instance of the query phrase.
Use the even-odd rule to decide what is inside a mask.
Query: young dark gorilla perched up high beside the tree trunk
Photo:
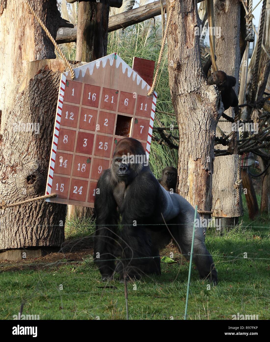
[[[238,98],[232,87],[236,85],[236,78],[228,76],[224,71],[215,71],[207,80],[207,84],[215,84],[221,92],[224,110],[238,105]]]

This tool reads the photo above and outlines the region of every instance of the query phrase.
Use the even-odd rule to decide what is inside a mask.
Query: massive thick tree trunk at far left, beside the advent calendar
[[[55,37],[60,21],[56,1],[30,3]],[[45,193],[65,67],[59,60],[46,60],[55,58],[54,46],[24,2],[6,2],[0,36],[0,198],[13,203]],[[66,206],[45,201],[2,209],[0,250],[60,246],[65,215]]]

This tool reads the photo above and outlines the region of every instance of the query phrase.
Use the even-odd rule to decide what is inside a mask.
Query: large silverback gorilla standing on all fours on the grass
[[[128,161],[128,153],[146,157],[139,141],[120,140],[111,168],[102,173],[97,184],[94,260],[102,280],[112,279],[115,272],[120,274],[120,281],[125,275],[136,279],[145,274],[159,275],[159,250],[171,239],[186,258],[191,249],[194,208],[180,195],[166,191],[143,158],[137,163]],[[200,277],[216,284],[217,272],[201,227],[195,232],[193,260]]]

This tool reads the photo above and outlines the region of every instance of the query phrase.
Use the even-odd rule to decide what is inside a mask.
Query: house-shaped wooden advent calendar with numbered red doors
[[[143,61],[140,74],[147,75],[152,61]],[[150,85],[116,53],[74,72],[74,80],[69,71],[61,75],[46,186],[57,197],[46,201],[94,207],[97,181],[119,140],[133,137],[150,153],[157,94],[147,96]]]

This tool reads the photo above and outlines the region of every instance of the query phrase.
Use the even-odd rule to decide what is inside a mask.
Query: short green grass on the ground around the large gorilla
[[[269,220],[262,217],[250,223],[244,218],[224,236],[209,229],[206,245],[219,284],[208,290],[208,282],[201,282],[193,267],[188,319],[231,319],[238,312],[270,319]],[[175,253],[169,247],[162,255],[169,256],[172,250]],[[177,253],[174,258],[177,263],[162,263],[160,277],[128,284],[130,319],[183,319],[188,263],[181,263]],[[12,319],[23,301],[23,313],[39,314],[40,319],[125,319],[124,285],[116,279],[109,284],[114,289],[101,288],[104,283],[90,255],[80,262],[65,261],[45,269],[2,272],[0,319]]]

